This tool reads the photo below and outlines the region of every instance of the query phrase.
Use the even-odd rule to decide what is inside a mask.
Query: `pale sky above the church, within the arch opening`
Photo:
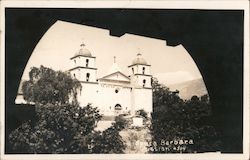
[[[151,65],[151,74],[166,85],[201,78],[196,64],[182,45],[167,46],[164,40],[133,34],[115,37],[110,36],[106,29],[57,21],[38,42],[22,79],[28,79],[33,66],[44,65],[54,70],[69,70],[70,58],[82,43],[96,57],[98,78],[108,74],[114,56],[122,72],[127,75],[127,66],[132,64],[138,53]]]

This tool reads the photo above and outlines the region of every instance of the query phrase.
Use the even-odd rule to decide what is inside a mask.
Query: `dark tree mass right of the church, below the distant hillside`
[[[219,136],[205,119],[211,118],[207,95],[183,101],[166,86],[153,81],[150,152],[180,153],[219,150]]]

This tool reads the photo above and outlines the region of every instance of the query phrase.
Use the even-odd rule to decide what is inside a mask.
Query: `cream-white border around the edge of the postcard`
[[[32,159],[32,160],[76,160],[76,159],[249,159],[249,1],[217,0],[217,1],[31,1],[4,0],[1,4],[1,159]],[[196,153],[196,154],[5,154],[5,8],[144,8],[144,9],[241,9],[244,10],[244,102],[243,102],[243,154]]]

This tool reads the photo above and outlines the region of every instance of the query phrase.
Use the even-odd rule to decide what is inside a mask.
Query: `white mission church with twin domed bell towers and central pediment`
[[[141,54],[128,65],[128,75],[122,73],[114,57],[109,72],[101,78],[97,77],[96,58],[84,44],[70,58],[69,72],[82,85],[77,97],[81,106],[91,104],[107,116],[134,115],[140,109],[152,112],[151,66]]]

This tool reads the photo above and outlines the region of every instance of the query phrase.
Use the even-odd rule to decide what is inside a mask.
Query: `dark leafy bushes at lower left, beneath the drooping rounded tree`
[[[88,153],[91,134],[101,116],[96,108],[36,106],[37,122],[25,122],[9,135],[13,151],[21,153]]]

